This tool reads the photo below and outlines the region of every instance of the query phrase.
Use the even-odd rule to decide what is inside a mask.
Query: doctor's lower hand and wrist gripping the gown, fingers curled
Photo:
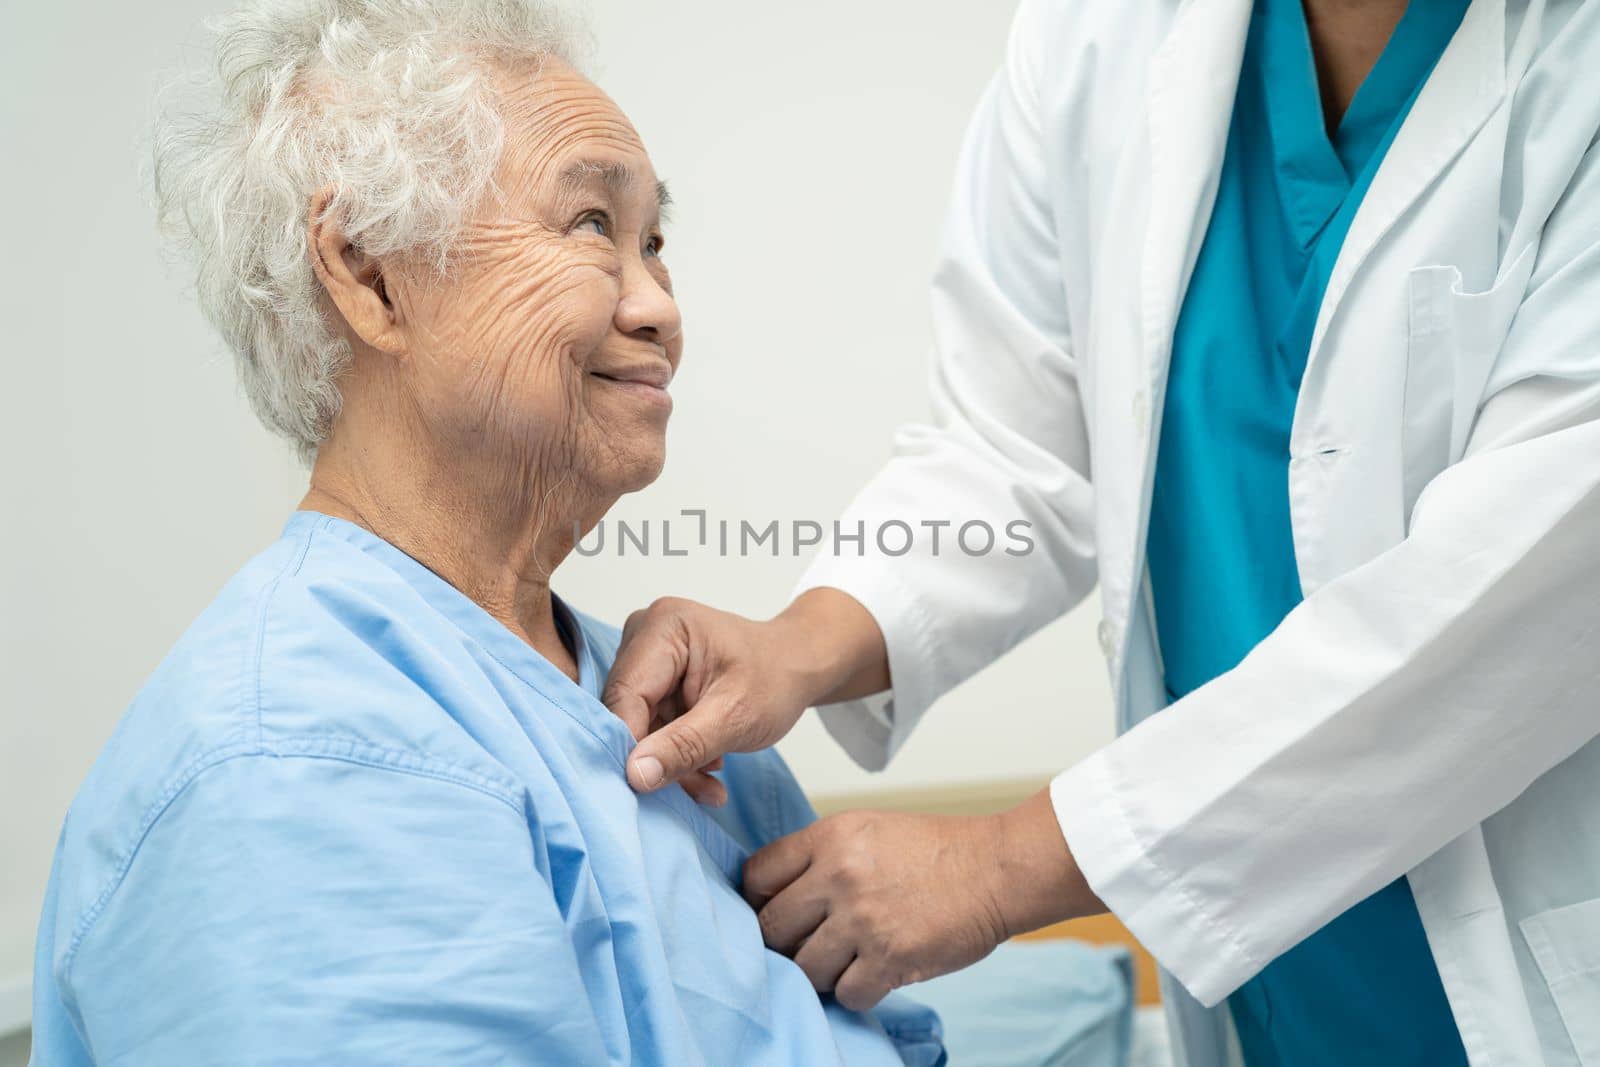
[[[976,963],[1016,934],[1106,910],[1048,790],[998,816],[822,819],[755,853],[744,896],[768,947],[853,1011]]]

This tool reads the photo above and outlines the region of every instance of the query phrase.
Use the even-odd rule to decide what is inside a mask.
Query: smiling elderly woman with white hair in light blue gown
[[[618,633],[550,592],[661,470],[683,346],[666,195],[570,53],[531,0],[262,2],[162,131],[202,304],[314,466],[69,813],[37,1062],[941,1059],[763,949],[738,870],[811,817],[776,757],[694,782],[720,819],[635,797]]]

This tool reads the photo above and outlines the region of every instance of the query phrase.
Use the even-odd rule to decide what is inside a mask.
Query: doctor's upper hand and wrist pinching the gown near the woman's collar
[[[886,689],[888,654],[872,616],[835,589],[813,589],[766,622],[693,600],[658,600],[622,627],[603,701],[638,739],[627,781],[680,782],[701,803],[725,752],[781,739],[806,707]]]

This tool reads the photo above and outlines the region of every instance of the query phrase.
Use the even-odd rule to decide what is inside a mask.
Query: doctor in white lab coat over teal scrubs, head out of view
[[[1600,1064],[1597,54],[1579,0],[1022,2],[934,424],[842,525],[1035,549],[659,601],[608,704],[637,789],[808,705],[880,768],[1098,581],[1122,737],[998,817],[776,841],[768,944],[862,1006],[1110,909],[1184,1064]]]

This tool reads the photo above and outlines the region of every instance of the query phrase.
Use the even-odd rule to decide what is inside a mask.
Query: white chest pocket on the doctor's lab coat
[[[1408,525],[1427,483],[1466,453],[1483,389],[1522,306],[1536,253],[1536,245],[1523,248],[1482,293],[1462,286],[1458,267],[1411,270],[1402,429]]]

